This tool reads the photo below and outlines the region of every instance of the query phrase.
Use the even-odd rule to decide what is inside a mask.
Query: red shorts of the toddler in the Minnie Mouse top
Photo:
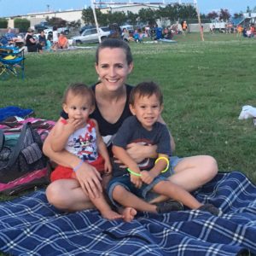
[[[99,155],[97,160],[91,162],[90,165],[96,167],[98,172],[104,172],[104,159],[102,158],[102,155]],[[66,166],[57,166],[50,174],[50,181],[54,182],[55,180],[61,178],[76,178],[76,174],[73,172],[72,168]]]

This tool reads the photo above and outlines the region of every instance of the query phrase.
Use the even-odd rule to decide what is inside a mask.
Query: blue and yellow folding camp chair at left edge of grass
[[[0,47],[0,77],[6,79],[10,74],[15,77],[25,77],[24,49],[17,47]]]

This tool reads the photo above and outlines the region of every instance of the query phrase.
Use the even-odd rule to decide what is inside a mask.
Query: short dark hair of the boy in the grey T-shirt
[[[163,104],[163,95],[160,90],[160,87],[158,84],[155,84],[154,82],[143,82],[140,84],[137,84],[135,87],[132,88],[129,103],[131,105],[134,105],[135,97],[142,97],[142,96],[153,96],[155,95],[160,102],[160,105]]]

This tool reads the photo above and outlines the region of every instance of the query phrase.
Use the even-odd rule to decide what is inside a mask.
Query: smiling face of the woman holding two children
[[[124,49],[104,48],[99,51],[96,73],[108,90],[118,90],[125,84],[133,63],[128,65]]]

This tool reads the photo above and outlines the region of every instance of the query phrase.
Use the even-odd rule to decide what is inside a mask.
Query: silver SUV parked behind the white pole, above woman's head
[[[99,27],[100,38],[108,38],[110,35],[110,29],[108,26]],[[99,43],[96,27],[85,29],[80,36],[73,38],[73,44],[88,44],[88,43]]]

